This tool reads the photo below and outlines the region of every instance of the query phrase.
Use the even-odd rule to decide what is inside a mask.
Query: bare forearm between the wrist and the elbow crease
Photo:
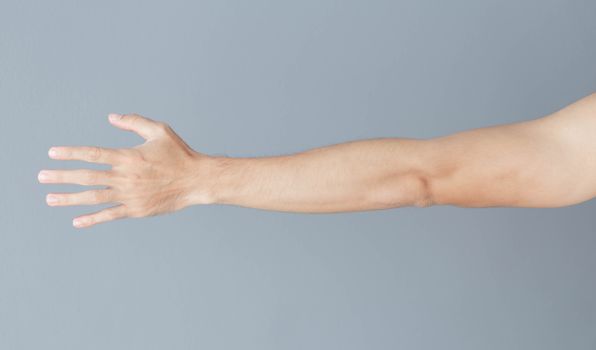
[[[297,212],[425,206],[427,151],[425,141],[387,138],[279,157],[212,158],[209,198]]]

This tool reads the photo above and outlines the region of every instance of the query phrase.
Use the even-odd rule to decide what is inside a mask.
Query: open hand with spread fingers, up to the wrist
[[[144,217],[172,212],[188,205],[209,202],[201,183],[211,157],[192,150],[168,125],[140,115],[110,114],[117,128],[133,131],[145,143],[129,149],[100,147],[52,147],[57,160],[81,160],[111,165],[110,170],[42,170],[38,179],[47,184],[107,186],[77,193],[50,193],[50,206],[119,205],[83,215],[73,226],[90,227],[125,217]]]

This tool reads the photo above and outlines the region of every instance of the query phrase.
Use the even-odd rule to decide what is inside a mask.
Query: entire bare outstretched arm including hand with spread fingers
[[[275,157],[215,157],[140,115],[109,122],[145,142],[129,149],[52,147],[57,160],[110,170],[42,170],[41,183],[103,185],[50,193],[50,206],[114,203],[78,228],[197,204],[331,213],[454,205],[562,207],[596,197],[596,94],[543,118],[428,140],[379,138]]]

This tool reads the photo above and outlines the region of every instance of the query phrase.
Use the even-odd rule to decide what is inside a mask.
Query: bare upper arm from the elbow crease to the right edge
[[[596,196],[596,94],[541,119],[431,143],[438,204],[560,207]]]

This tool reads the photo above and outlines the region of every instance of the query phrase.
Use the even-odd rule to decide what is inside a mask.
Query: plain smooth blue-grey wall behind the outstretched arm
[[[77,231],[52,145],[295,152],[548,114],[596,90],[596,2],[0,2],[0,348],[594,349],[594,201]]]

